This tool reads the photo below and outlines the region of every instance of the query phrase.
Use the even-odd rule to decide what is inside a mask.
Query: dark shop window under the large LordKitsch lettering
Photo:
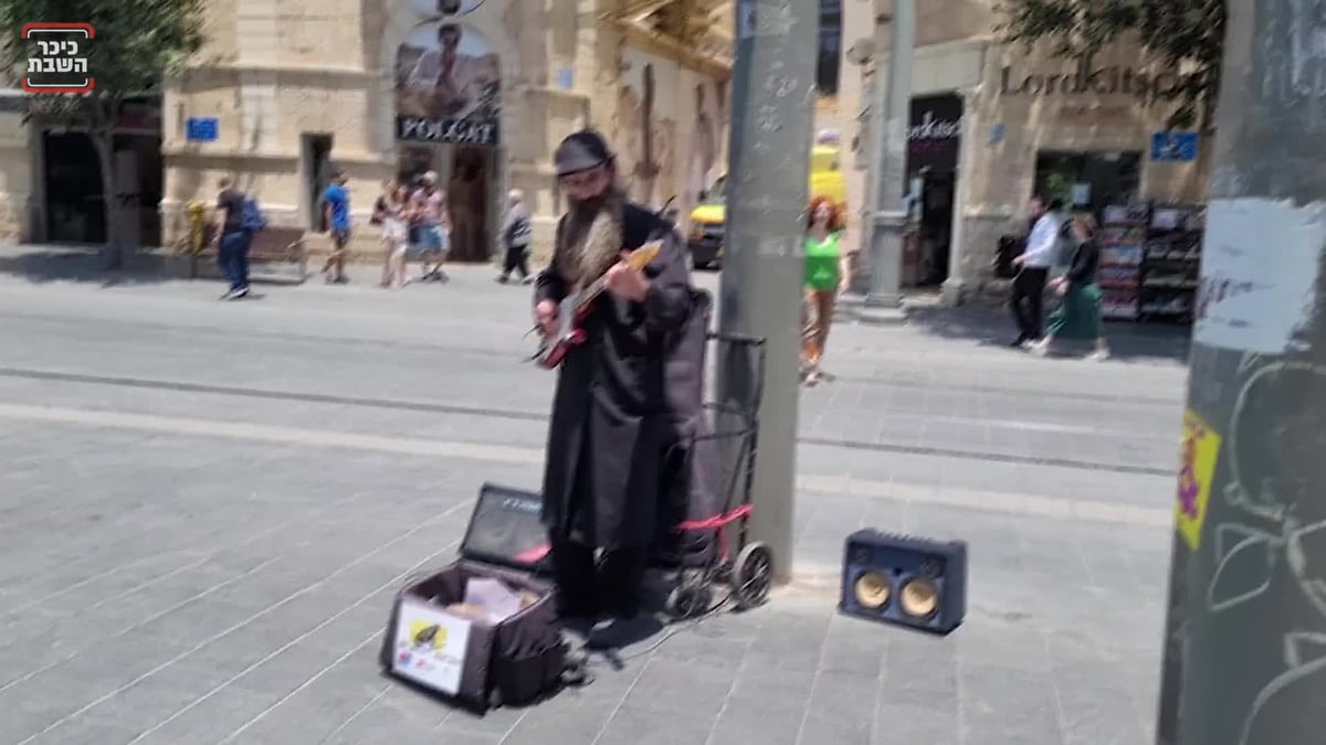
[[[1097,215],[1107,204],[1135,201],[1140,176],[1142,152],[1041,151],[1036,156],[1036,194]]]

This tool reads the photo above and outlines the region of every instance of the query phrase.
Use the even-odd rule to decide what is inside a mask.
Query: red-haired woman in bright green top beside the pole
[[[806,219],[805,298],[801,305],[801,369],[808,386],[819,383],[819,361],[829,341],[838,293],[846,289],[849,255],[842,249],[842,211],[827,196],[810,200]]]

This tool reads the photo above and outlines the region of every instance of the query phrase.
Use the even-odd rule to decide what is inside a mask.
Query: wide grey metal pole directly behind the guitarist
[[[753,538],[773,550],[774,581],[792,578],[797,358],[818,24],[814,3],[737,0],[732,139],[719,327],[766,339],[758,402]],[[756,390],[751,350],[719,358],[719,400]],[[727,453],[731,469],[733,453]],[[728,471],[731,473],[731,471]]]

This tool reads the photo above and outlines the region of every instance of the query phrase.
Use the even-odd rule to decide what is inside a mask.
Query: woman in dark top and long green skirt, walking
[[[1101,288],[1095,284],[1101,265],[1101,251],[1095,244],[1095,220],[1090,215],[1075,215],[1071,224],[1077,249],[1069,270],[1050,282],[1050,289],[1063,300],[1050,314],[1045,338],[1033,345],[1032,351],[1044,357],[1055,341],[1094,341],[1095,353],[1090,359],[1110,358],[1110,345],[1105,341],[1101,323]]]

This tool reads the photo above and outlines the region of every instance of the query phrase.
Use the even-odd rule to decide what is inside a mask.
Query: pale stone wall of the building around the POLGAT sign
[[[207,198],[223,174],[235,174],[261,198],[273,223],[313,227],[314,187],[326,178],[326,172],[313,172],[320,167],[347,171],[357,221],[363,224],[383,179],[431,167],[451,192],[457,231],[457,211],[467,201],[480,213],[473,217],[480,223],[479,245],[469,247],[469,258],[495,244],[504,195],[512,188],[525,192],[536,244],[546,249],[560,211],[552,151],[582,126],[614,141],[626,175],[636,167],[659,171],[658,187],[636,190],[638,196],[662,200],[666,192],[679,194],[682,179],[674,162],[676,154],[691,150],[693,127],[687,123],[695,121],[693,95],[686,95],[687,85],[680,81],[703,81],[713,89],[725,80],[729,61],[704,53],[704,46],[668,44],[652,28],[660,4],[643,11],[639,3],[625,0],[461,0],[447,5],[446,0],[210,3],[208,49],[166,98],[166,224],[178,231],[182,205]],[[472,127],[453,127],[455,121],[444,114],[432,118],[432,131],[406,139],[406,119],[427,114],[404,110],[403,80],[418,64],[418,54],[406,58],[408,48],[427,49],[444,25],[459,27],[460,53],[477,60],[477,66],[488,65],[484,72],[495,78],[495,103],[469,114],[492,130],[476,134]],[[720,44],[707,48],[721,48],[721,24],[697,33],[717,34]],[[626,147],[627,125],[639,123],[640,111],[623,91],[631,87],[633,73],[644,68],[663,81],[650,123],[667,137],[651,138],[654,168],[640,160],[646,154]],[[221,137],[207,144],[187,142],[184,119],[204,115],[219,119]],[[443,131],[448,127],[455,131]],[[460,142],[448,142],[452,138]],[[664,152],[659,152],[660,141]],[[310,163],[324,155],[310,154],[310,143],[324,146],[326,166]],[[461,151],[471,163],[461,163]],[[626,162],[626,156],[635,160]],[[471,179],[477,183],[465,184],[459,171],[472,164],[480,171]],[[357,249],[378,251],[373,231],[359,235]]]

